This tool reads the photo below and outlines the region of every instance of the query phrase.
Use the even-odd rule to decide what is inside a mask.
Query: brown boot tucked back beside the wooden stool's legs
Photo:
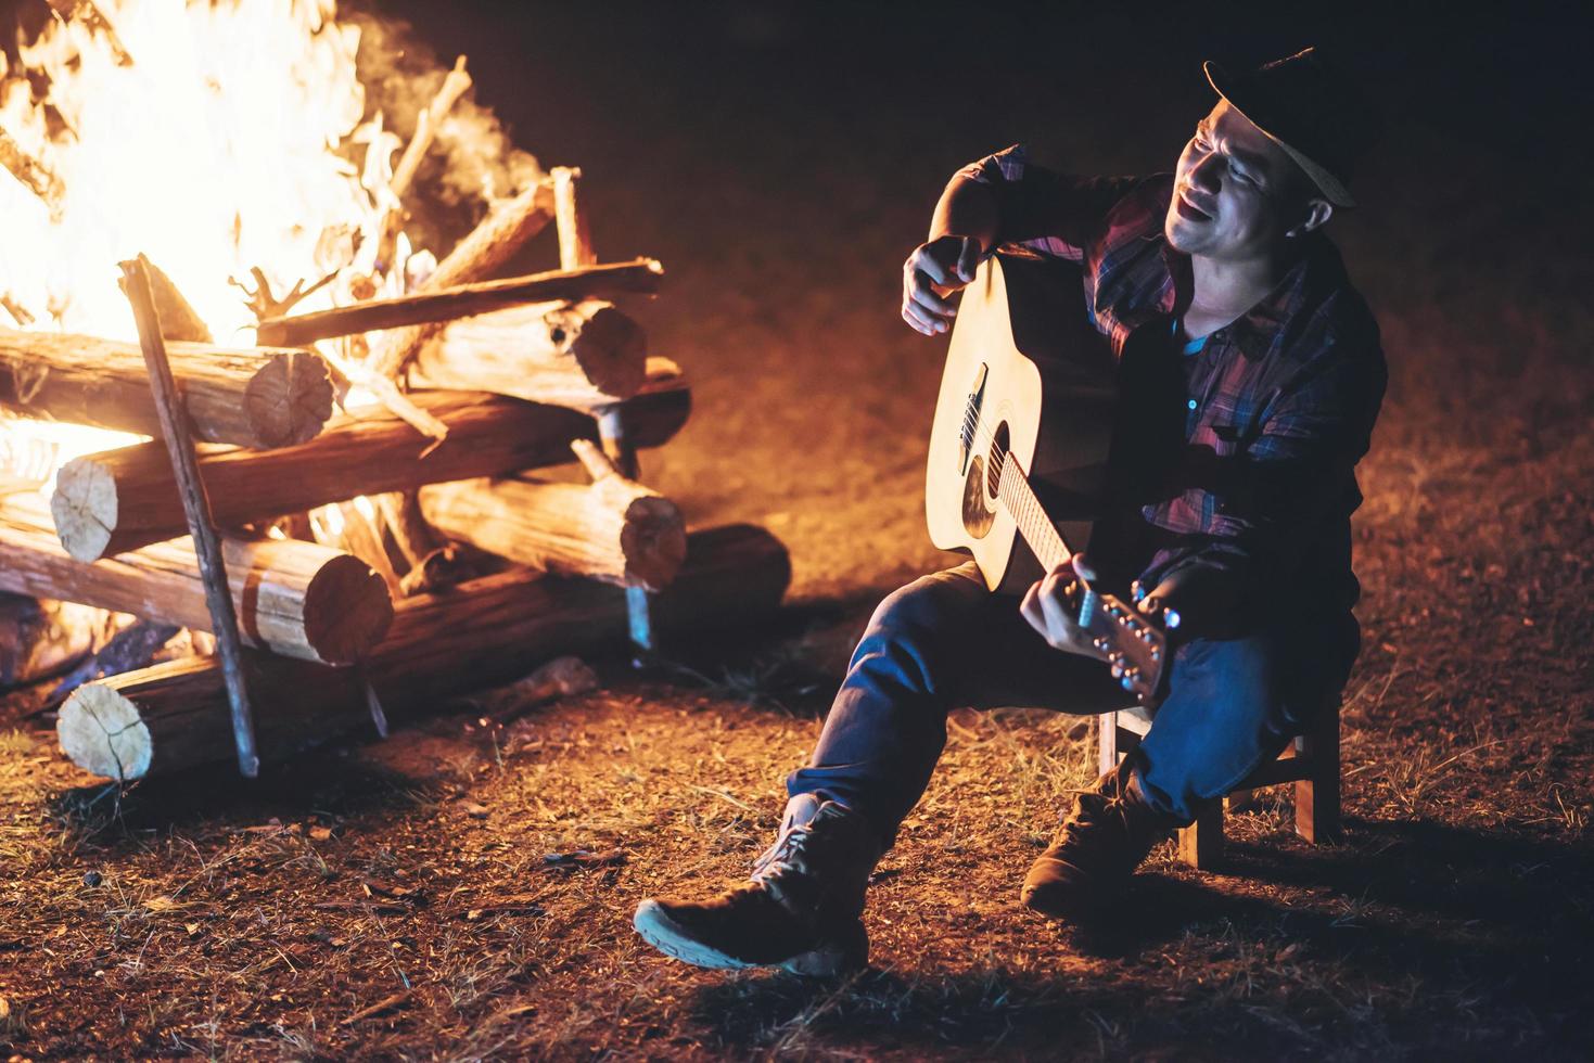
[[[1101,912],[1151,846],[1178,827],[1141,797],[1135,760],[1125,757],[1093,789],[1074,797],[1057,837],[1023,877],[1022,899],[1028,907],[1068,920]]]

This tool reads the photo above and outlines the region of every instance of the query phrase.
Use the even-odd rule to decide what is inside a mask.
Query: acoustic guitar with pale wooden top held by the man
[[[942,550],[972,555],[995,593],[1019,594],[1087,545],[1108,478],[1116,367],[1081,312],[1076,266],[993,255],[963,290],[929,432],[925,516]],[[1138,591],[1138,588],[1137,588]],[[1068,602],[1113,676],[1160,696],[1165,628],[1074,580]]]

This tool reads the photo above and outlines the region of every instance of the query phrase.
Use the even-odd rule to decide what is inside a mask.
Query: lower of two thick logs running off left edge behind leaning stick
[[[379,642],[392,622],[381,577],[346,553],[293,539],[223,539],[222,559],[249,645],[349,665]],[[190,539],[83,564],[61,548],[37,496],[0,500],[0,590],[210,630]]]

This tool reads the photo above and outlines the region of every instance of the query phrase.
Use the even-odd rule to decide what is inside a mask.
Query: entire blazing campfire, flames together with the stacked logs
[[[778,542],[641,483],[690,387],[611,300],[663,266],[599,261],[580,171],[512,148],[464,57],[395,92],[332,0],[49,10],[0,69],[0,682],[57,677],[78,765],[241,754],[234,657],[282,757],[779,601]],[[421,247],[461,193],[473,228]]]

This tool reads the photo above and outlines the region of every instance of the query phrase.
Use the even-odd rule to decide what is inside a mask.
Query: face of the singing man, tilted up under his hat
[[[1186,255],[1245,261],[1270,253],[1304,215],[1294,161],[1219,99],[1175,169],[1162,231]]]

